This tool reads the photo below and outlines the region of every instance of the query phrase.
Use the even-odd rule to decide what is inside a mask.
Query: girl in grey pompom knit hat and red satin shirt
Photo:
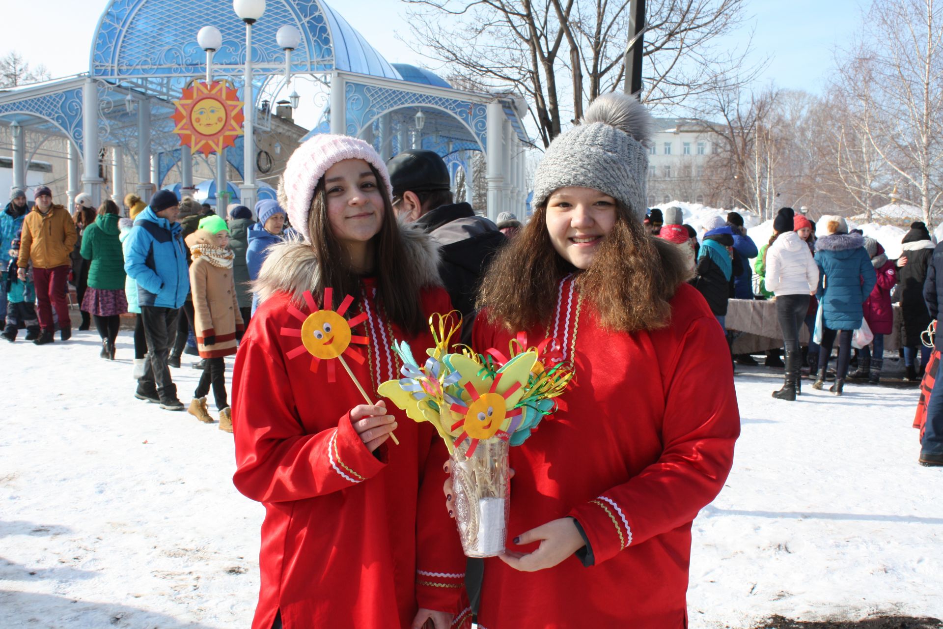
[[[534,216],[482,282],[476,351],[525,330],[576,374],[511,448],[482,629],[687,626],[691,521],[723,487],[739,413],[723,330],[640,220],[650,126],[635,99],[597,99],[547,150]]]

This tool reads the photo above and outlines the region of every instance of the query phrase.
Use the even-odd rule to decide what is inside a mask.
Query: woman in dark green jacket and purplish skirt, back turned
[[[127,312],[124,296],[124,251],[118,236],[118,206],[110,199],[98,207],[95,222],[85,228],[81,254],[91,260],[89,288],[82,309],[91,313],[102,338],[101,355],[114,360],[121,315]]]

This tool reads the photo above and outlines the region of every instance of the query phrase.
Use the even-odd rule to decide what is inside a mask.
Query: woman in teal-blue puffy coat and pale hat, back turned
[[[842,394],[848,362],[852,356],[852,333],[861,327],[864,303],[877,282],[877,274],[865,249],[865,238],[849,234],[848,224],[840,216],[819,219],[827,236],[816,240],[816,264],[819,265],[819,308],[822,312],[822,342],[819,352],[819,377],[812,385],[821,389],[832,356],[835,337],[838,339],[838,366],[835,384],[829,389]]]

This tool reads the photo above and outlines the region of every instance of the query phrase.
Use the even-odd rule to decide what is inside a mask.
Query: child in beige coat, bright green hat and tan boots
[[[193,258],[190,291],[196,345],[206,359],[188,412],[201,422],[213,421],[207,410],[207,393],[212,387],[220,411],[220,430],[231,433],[224,356],[236,354],[236,333],[242,331],[243,323],[233,278],[235,256],[229,248],[229,229],[219,216],[207,216],[186,242]]]

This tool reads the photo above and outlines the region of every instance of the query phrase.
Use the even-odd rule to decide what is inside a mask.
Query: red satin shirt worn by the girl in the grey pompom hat
[[[473,346],[504,350],[511,336],[483,313]],[[594,563],[571,556],[521,572],[487,559],[479,626],[685,627],[691,521],[723,487],[740,430],[723,331],[687,284],[668,327],[606,331],[566,278],[549,328],[528,331],[532,345],[548,336],[576,376],[559,398],[565,410],[511,448],[508,538],[571,516]]]

